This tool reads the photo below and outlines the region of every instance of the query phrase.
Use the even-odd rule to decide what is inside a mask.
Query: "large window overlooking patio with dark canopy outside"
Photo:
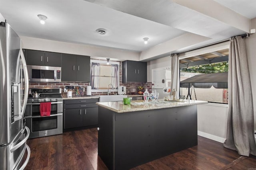
[[[192,100],[227,104],[226,72],[228,49],[180,59],[180,95],[190,95]],[[195,77],[192,78],[193,76]]]

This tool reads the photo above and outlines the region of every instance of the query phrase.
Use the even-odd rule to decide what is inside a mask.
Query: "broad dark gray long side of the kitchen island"
[[[197,109],[115,113],[114,168],[130,169],[197,145]]]

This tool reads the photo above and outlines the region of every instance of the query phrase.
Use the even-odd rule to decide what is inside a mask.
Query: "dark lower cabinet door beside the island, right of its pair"
[[[98,107],[89,107],[84,109],[83,125],[98,125]]]

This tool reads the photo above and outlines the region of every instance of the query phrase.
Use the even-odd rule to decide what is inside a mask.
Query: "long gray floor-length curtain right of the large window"
[[[256,155],[250,74],[241,36],[230,39],[228,60],[228,124],[224,147],[237,150],[240,155]]]

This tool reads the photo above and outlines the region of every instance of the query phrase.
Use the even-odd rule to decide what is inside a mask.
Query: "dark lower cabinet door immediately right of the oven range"
[[[64,129],[82,127],[83,109],[65,109],[64,110]]]

